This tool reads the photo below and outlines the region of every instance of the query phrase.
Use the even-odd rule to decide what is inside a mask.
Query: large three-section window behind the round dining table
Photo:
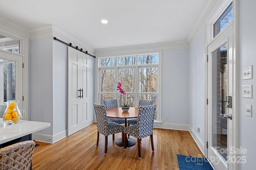
[[[158,104],[158,67],[159,53],[98,58],[99,102],[118,98],[119,106],[138,107],[139,99]],[[117,82],[122,83],[126,95],[116,90]],[[158,120],[157,114],[155,119]]]

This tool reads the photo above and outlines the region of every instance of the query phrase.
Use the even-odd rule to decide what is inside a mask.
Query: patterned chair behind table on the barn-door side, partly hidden
[[[104,99],[103,104],[106,105],[106,109],[118,108],[118,100],[117,99]],[[125,119],[118,119],[114,117],[108,117],[109,121],[116,122],[119,124],[124,124]],[[115,134],[112,135],[113,141],[115,141]]]

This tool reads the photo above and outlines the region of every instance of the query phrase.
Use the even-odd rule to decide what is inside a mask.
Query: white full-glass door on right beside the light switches
[[[208,45],[208,158],[216,170],[232,169],[236,143],[234,122],[235,62],[232,24]],[[227,98],[227,96],[230,96]],[[233,99],[233,100],[232,100]],[[227,100],[230,102],[227,103]],[[233,101],[233,102],[232,102]],[[230,115],[230,117],[228,117]],[[231,115],[232,119],[231,119]]]

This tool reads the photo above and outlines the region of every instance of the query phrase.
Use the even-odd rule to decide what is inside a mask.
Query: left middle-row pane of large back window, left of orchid
[[[115,70],[100,70],[100,92],[114,92]]]

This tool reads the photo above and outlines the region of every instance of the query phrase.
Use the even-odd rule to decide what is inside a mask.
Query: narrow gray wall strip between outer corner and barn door
[[[53,41],[53,134],[67,129],[68,97],[68,48],[59,41]]]

